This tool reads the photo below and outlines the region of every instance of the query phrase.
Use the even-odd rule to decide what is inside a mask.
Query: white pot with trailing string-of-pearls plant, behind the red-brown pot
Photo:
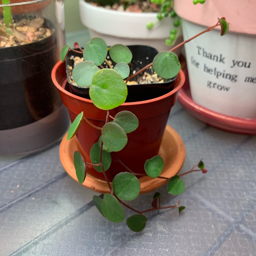
[[[182,42],[181,21],[173,10],[173,0],[80,0],[79,9],[90,37],[101,37],[108,45],[149,45],[168,51],[170,45]],[[179,56],[180,51],[177,48],[175,53]]]

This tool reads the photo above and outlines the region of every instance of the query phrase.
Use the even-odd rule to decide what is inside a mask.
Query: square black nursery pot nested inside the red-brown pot
[[[134,71],[137,72],[141,68],[145,67],[147,64],[151,63],[154,57],[158,54],[158,51],[155,48],[150,46],[128,45],[127,47],[132,52],[130,75],[133,74]],[[69,82],[69,90],[74,95],[77,95],[86,99],[90,99],[89,87],[80,87],[73,84],[70,81],[68,67],[70,66],[73,67],[73,63],[74,63],[73,59],[70,58],[71,56],[83,57],[83,55],[79,53],[75,53],[73,51],[69,51],[68,53],[68,56],[66,58],[66,70],[67,70],[67,76],[68,76],[68,82]],[[154,74],[154,71],[152,68],[151,69],[148,68],[145,71],[150,74]],[[139,74],[139,75],[142,76],[144,72],[142,72],[142,74]],[[133,81],[136,81],[135,79],[133,79]],[[127,85],[128,96],[125,102],[150,100],[150,99],[154,99],[162,95],[165,95],[173,90],[175,79],[176,79],[176,76],[173,77],[172,79],[164,79],[165,82],[163,83]]]

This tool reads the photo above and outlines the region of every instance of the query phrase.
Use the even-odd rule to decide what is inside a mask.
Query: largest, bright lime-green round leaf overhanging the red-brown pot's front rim
[[[127,86],[115,70],[101,69],[93,76],[89,95],[97,108],[110,110],[125,102]]]

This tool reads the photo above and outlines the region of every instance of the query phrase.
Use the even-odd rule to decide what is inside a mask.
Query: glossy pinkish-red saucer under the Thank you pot
[[[186,76],[186,82],[179,90],[178,100],[191,115],[206,124],[222,130],[242,134],[256,134],[256,119],[223,115],[194,102],[191,98],[187,81],[188,77]]]

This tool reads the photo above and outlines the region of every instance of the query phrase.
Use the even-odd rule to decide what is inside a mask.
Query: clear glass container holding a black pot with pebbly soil
[[[51,80],[65,42],[62,12],[55,0],[0,3],[0,155],[44,148],[69,125]]]

